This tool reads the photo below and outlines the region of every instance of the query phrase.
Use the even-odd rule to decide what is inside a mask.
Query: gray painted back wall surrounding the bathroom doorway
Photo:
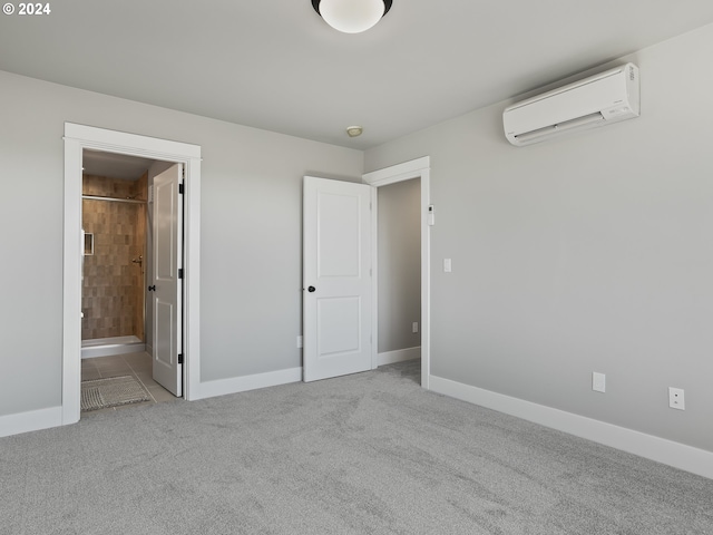
[[[202,378],[301,366],[302,177],[363,153],[0,72],[0,416],[61,402],[64,124],[203,147]]]

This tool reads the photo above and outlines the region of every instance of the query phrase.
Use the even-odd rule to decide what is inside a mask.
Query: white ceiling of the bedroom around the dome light
[[[361,35],[310,0],[50,7],[0,16],[1,70],[353,148],[713,22],[711,0],[394,0]]]

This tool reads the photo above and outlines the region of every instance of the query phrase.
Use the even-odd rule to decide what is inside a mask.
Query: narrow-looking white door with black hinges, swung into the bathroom
[[[152,307],[154,310],[154,380],[183,396],[182,280],[183,203],[179,184],[183,165],[173,165],[154,178],[154,246]]]

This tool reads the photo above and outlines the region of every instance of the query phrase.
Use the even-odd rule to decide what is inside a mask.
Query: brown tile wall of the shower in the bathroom
[[[84,175],[82,193],[146,200],[148,175],[123,181]],[[136,335],[144,340],[146,205],[82,200],[82,226],[94,234],[84,259],[81,339]],[[131,262],[144,256],[144,263]]]

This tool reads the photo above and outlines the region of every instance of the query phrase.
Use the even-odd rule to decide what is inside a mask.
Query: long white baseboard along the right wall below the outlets
[[[434,392],[516,416],[713,479],[713,451],[484,390],[451,381],[450,379],[430,376],[429,380],[430,389]]]

